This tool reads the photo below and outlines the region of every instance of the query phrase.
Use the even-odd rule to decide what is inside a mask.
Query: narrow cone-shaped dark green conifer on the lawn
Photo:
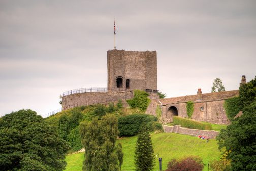
[[[153,170],[155,166],[151,137],[145,123],[141,125],[135,147],[135,167],[138,171]]]

